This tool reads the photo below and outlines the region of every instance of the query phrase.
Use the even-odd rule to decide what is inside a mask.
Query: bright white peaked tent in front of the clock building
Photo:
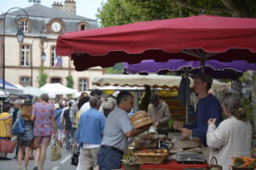
[[[77,94],[78,90],[73,88],[67,88],[60,83],[47,83],[41,90],[44,90],[47,94],[64,95],[64,94]]]

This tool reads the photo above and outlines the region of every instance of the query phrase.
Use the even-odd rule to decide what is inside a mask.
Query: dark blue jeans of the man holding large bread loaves
[[[97,153],[97,163],[100,170],[119,169],[123,156],[114,150],[101,148]]]

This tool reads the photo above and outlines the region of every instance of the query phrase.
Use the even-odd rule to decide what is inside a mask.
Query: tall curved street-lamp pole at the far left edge
[[[9,11],[15,9],[15,8],[19,8],[19,7],[14,7],[14,8],[10,8],[3,17],[3,91],[5,90],[5,20],[6,20],[6,15],[9,13]],[[25,12],[26,14],[26,18],[28,19],[28,15],[26,13],[26,10],[24,10],[23,8],[19,8],[21,9],[23,12]],[[19,26],[18,26],[19,29]]]

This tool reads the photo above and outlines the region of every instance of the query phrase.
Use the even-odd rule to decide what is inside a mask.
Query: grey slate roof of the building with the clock
[[[29,34],[38,34],[46,30],[46,25],[49,20],[52,19],[61,19],[65,24],[65,32],[69,31],[78,31],[78,24],[80,22],[87,22],[89,26],[87,29],[96,29],[98,28],[97,20],[92,20],[83,16],[79,16],[76,14],[68,14],[59,9],[45,7],[41,4],[34,4],[30,7],[24,8],[26,13],[28,14],[29,19],[31,20],[31,31]],[[16,34],[18,30],[18,25],[15,23],[15,17],[17,15],[26,16],[23,10],[18,9],[13,12],[10,12],[5,20],[6,33]],[[0,15],[0,19],[3,20],[3,14]],[[0,22],[0,34],[3,32],[3,22]]]

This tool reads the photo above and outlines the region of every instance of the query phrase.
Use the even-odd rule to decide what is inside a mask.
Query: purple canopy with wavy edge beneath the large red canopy
[[[201,72],[201,61],[186,61],[183,59],[169,59],[167,62],[155,62],[154,59],[143,60],[137,64],[124,63],[125,73],[148,74],[157,73],[165,75],[167,72],[184,73],[189,67],[189,73]],[[250,64],[244,60],[232,62],[219,62],[218,60],[206,59],[205,72],[213,78],[238,79],[244,71],[255,71],[256,64]]]

